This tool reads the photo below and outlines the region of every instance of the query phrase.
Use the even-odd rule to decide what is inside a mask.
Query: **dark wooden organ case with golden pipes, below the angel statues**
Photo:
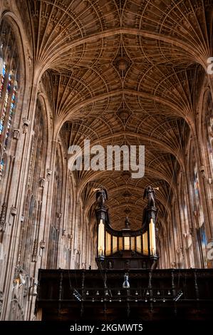
[[[108,209],[95,210],[98,229],[96,262],[100,269],[155,269],[157,267],[155,225],[157,208],[147,206],[142,216],[142,228],[113,230]]]

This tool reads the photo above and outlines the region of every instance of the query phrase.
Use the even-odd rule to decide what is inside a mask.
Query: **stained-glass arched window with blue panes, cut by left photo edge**
[[[19,86],[19,56],[11,26],[0,25],[0,180],[6,167],[4,152],[9,148],[16,113]]]

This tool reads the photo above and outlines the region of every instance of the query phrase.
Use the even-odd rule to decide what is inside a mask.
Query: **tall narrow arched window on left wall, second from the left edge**
[[[22,246],[20,264],[24,269],[29,269],[31,262],[36,261],[38,252],[38,226],[41,215],[39,206],[39,193],[43,188],[46,155],[47,155],[47,134],[46,134],[46,113],[40,100],[36,102],[36,113],[33,122],[33,137],[31,142],[30,163],[28,167],[28,182],[26,185],[26,200],[24,208],[23,236],[20,239]]]

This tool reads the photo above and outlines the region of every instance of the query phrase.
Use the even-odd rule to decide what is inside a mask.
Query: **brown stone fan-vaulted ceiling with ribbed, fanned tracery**
[[[170,211],[196,93],[212,51],[210,0],[19,0],[33,63],[51,78],[53,122],[67,146],[145,145],[145,177],[78,172],[90,213],[93,187],[108,190],[110,220],[141,226],[142,193],[157,193],[160,220]],[[207,33],[209,31],[209,34]]]

